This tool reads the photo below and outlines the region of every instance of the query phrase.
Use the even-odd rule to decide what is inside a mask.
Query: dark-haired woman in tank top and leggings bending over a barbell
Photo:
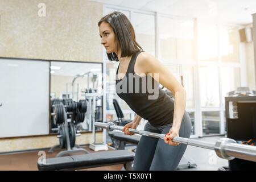
[[[123,127],[123,132],[133,135],[127,129],[136,129],[144,118],[148,121],[144,130],[166,134],[164,140],[141,137],[134,170],[175,170],[187,145],[172,139],[179,136],[189,138],[191,134],[183,86],[160,61],[142,51],[135,40],[134,28],[124,14],[117,11],[108,14],[101,18],[98,27],[109,60],[119,61],[117,94],[136,113],[133,122]],[[175,101],[159,88],[159,83],[171,90]]]

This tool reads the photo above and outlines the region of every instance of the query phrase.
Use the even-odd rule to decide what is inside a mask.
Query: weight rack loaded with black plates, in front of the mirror
[[[63,105],[63,102],[65,105]],[[72,100],[53,100],[52,110],[53,122],[58,127],[52,129],[57,131],[59,144],[50,148],[48,151],[52,153],[56,148],[67,148],[57,154],[57,157],[74,152],[84,152],[88,154],[84,148],[80,148],[76,143],[76,137],[81,136],[80,131],[77,131],[77,124],[84,121],[86,113],[86,101],[80,100],[75,102]],[[68,122],[68,119],[71,121]]]

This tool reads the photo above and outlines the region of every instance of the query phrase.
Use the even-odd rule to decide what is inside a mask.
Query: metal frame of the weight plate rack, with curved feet
[[[65,106],[63,106],[65,107]],[[70,114],[70,113],[66,113],[65,109],[63,110],[64,111],[64,134],[65,134],[65,143],[66,143],[66,146],[67,146],[67,150],[65,151],[60,151],[56,156],[57,157],[60,157],[60,156],[63,156],[65,154],[72,154],[72,153],[76,153],[76,152],[84,152],[85,154],[89,154],[89,152],[87,150],[85,150],[84,148],[80,148],[79,145],[75,144],[75,147],[71,147],[71,144],[70,144],[70,138],[69,138],[69,129],[68,129],[68,119],[67,119],[67,114]],[[57,129],[52,129],[53,131],[59,131],[60,130],[60,127],[58,127]],[[79,136],[81,134],[76,134],[76,136]],[[62,135],[57,135],[57,138],[61,138],[61,137],[64,137]],[[51,147],[48,151],[48,153],[53,153],[54,150],[56,148],[61,148],[61,146],[59,144]]]

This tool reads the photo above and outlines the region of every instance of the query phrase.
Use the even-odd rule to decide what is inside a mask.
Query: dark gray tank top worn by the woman
[[[134,72],[137,56],[131,57],[125,77],[118,80],[116,73],[115,90],[130,108],[152,126],[163,126],[172,123],[174,118],[174,101],[162,89],[159,82],[151,75],[139,76]]]

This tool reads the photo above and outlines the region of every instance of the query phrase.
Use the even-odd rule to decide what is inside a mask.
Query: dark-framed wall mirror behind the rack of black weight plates
[[[58,122],[52,113],[55,104],[60,103],[64,105],[67,121],[75,123],[77,130],[92,131],[92,113],[95,113],[96,122],[103,118],[102,63],[51,61],[50,69],[50,133],[57,133],[54,129]],[[93,97],[96,98],[94,105]],[[79,113],[81,107],[85,107],[83,113]]]

